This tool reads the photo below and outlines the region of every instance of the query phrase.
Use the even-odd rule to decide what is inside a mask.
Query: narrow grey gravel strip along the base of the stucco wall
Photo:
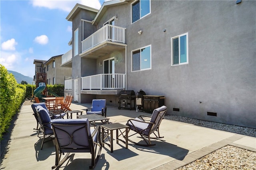
[[[196,126],[203,126],[206,128],[212,128],[217,130],[223,130],[226,132],[232,132],[236,134],[256,137],[256,129],[254,128],[247,128],[247,127],[235,126],[235,125],[223,124],[223,123],[217,123],[217,122],[209,122],[205,120],[198,120],[198,119],[186,118],[186,117],[174,116],[174,115],[166,115],[164,116],[164,118],[168,120],[174,120],[177,122],[190,123]]]

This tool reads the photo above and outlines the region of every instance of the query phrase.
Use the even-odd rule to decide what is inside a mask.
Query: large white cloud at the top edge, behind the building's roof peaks
[[[99,0],[32,0],[33,6],[60,9],[66,12],[70,12],[76,3],[96,9],[100,9],[101,7]]]

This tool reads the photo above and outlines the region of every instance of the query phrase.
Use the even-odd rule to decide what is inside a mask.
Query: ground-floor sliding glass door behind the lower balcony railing
[[[109,58],[104,60],[104,84],[105,88],[114,88],[115,84],[115,60]]]

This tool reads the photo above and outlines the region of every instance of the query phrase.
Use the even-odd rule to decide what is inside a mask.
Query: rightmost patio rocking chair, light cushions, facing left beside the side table
[[[160,108],[156,108],[152,116],[145,116],[145,115],[140,115],[138,118],[135,119],[129,119],[126,123],[127,126],[130,126],[130,130],[134,131],[133,134],[130,136],[128,135],[128,140],[134,144],[140,145],[140,146],[155,146],[156,144],[151,144],[150,139],[159,139],[159,138],[164,138],[164,136],[160,136],[159,133],[159,126],[162,122],[162,119],[164,119],[164,115],[166,113],[166,106],[162,106]],[[151,118],[150,121],[146,121],[145,117]],[[156,135],[155,132],[158,132],[158,135]],[[128,133],[129,133],[128,132]],[[140,135],[139,138],[142,138],[146,144],[134,142],[131,139],[129,139],[131,136],[134,135]],[[151,137],[150,135],[154,134],[155,136]]]

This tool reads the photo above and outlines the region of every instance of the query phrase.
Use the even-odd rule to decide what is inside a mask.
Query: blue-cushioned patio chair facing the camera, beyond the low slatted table
[[[86,109],[86,114],[100,114],[107,116],[106,99],[92,100],[92,107]]]

